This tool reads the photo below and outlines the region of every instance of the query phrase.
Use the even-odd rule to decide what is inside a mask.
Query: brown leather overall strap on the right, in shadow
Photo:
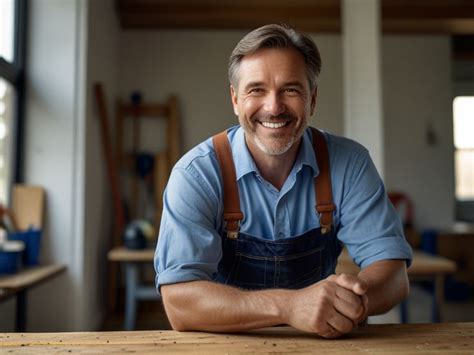
[[[327,233],[332,228],[332,214],[336,209],[332,199],[331,170],[329,168],[329,153],[326,139],[321,131],[311,127],[313,133],[313,148],[318,160],[319,175],[314,179],[316,194],[316,211],[319,214],[321,233]]]

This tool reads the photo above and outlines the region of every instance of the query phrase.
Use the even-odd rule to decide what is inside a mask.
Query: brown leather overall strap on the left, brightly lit
[[[221,168],[224,187],[224,228],[228,238],[236,239],[240,229],[240,221],[244,218],[244,214],[240,210],[235,165],[227,131],[212,137],[212,143]]]

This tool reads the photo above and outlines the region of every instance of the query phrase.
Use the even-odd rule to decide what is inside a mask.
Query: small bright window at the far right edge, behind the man
[[[453,101],[456,200],[474,201],[474,96]]]

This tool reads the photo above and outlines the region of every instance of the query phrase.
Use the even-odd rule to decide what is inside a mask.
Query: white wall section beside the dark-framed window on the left
[[[40,260],[67,265],[28,297],[28,331],[78,327],[83,285],[83,73],[86,3],[30,1],[25,181],[44,186]],[[52,315],[61,316],[52,316]]]

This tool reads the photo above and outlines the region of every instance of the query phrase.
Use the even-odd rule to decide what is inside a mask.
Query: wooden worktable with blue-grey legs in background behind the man
[[[123,247],[112,249],[108,258],[111,261],[120,262],[125,267],[125,330],[133,330],[135,328],[136,303],[140,299],[159,300],[154,286],[145,286],[141,284],[139,278],[139,267],[144,263],[153,262],[153,249],[131,250]],[[347,250],[344,249],[339,257],[336,273],[352,273],[357,274],[360,269],[352,261]],[[453,261],[435,256],[421,251],[414,251],[413,263],[408,269],[410,281],[419,281],[428,279],[434,281],[435,292],[433,294],[433,311],[432,318],[434,322],[439,322],[440,305],[444,302],[444,278],[446,274],[456,271],[456,263]],[[408,320],[407,304],[404,302],[401,308],[402,322]]]

